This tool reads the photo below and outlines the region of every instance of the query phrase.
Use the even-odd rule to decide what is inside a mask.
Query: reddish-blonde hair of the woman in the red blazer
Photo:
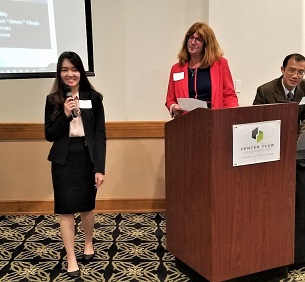
[[[223,56],[223,51],[217,42],[213,30],[207,24],[197,22],[189,28],[184,36],[182,48],[178,54],[179,64],[184,65],[190,60],[190,53],[187,49],[187,42],[189,36],[195,33],[203,39],[202,59],[200,66],[206,68],[213,64],[215,61],[220,60],[220,58]]]

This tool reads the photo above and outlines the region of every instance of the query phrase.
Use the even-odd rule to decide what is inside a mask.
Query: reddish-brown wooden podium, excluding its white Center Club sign
[[[166,247],[209,281],[294,261],[297,103],[195,109],[165,124]],[[233,125],[280,120],[280,160],[233,166]]]

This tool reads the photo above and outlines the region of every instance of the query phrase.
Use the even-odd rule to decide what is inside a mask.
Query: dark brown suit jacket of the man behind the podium
[[[305,82],[302,81],[295,88],[294,102],[299,103],[304,95],[305,95]],[[257,88],[253,105],[287,103],[287,102],[288,101],[282,85],[282,77],[279,77]],[[299,120],[303,120],[304,118],[305,118],[305,108],[304,105],[302,105],[299,106]]]

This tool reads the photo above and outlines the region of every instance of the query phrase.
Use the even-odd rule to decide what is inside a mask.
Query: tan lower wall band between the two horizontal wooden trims
[[[0,142],[0,201],[53,199],[46,141]],[[164,140],[110,139],[98,199],[164,199]]]

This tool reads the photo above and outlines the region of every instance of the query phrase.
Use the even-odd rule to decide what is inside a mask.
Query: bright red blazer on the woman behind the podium
[[[211,65],[210,72],[212,109],[238,107],[238,99],[234,90],[228,61],[222,57]],[[183,73],[183,75],[178,75],[183,76],[183,78],[178,79],[176,77],[174,81],[174,74],[177,76],[177,73]],[[172,104],[178,104],[177,98],[189,98],[188,63],[183,66],[178,63],[172,66],[165,103],[168,110],[170,110]]]

